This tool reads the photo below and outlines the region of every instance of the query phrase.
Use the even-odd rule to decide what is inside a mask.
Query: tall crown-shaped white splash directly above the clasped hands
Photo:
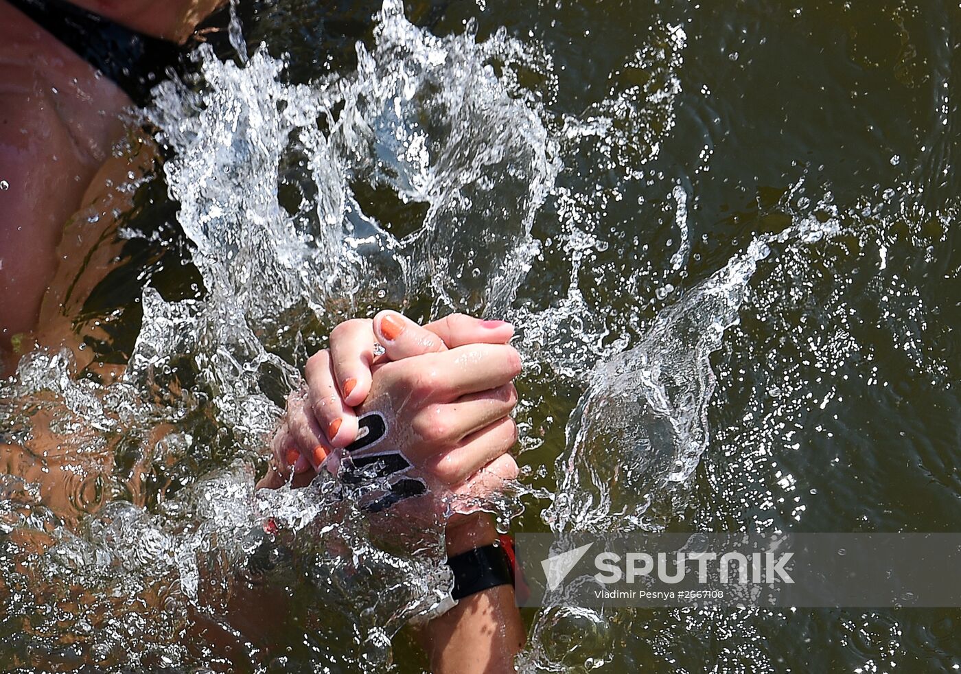
[[[384,3],[377,48],[358,44],[350,77],[285,86],[262,49],[244,68],[202,50],[202,94],[160,87],[149,114],[177,150],[165,168],[195,262],[255,329],[305,299],[323,315],[358,293],[338,315],[418,293],[438,310],[503,313],[536,252],[530,227],[556,166],[491,66],[510,40],[433,37],[402,10]],[[316,193],[288,213],[277,176],[291,153]],[[360,181],[426,205],[422,228],[392,236],[357,202]]]

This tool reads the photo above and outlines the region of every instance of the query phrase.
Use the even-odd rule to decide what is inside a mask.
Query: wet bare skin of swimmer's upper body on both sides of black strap
[[[183,41],[222,2],[75,4],[135,30]],[[148,153],[141,146],[151,156],[156,152],[137,138],[133,154],[141,156],[112,156],[127,133],[122,116],[133,105],[130,98],[5,0],[0,0],[0,64],[0,181],[8,186],[0,189],[0,375],[9,376],[19,355],[36,345],[58,348],[66,342],[83,359],[69,320],[52,320],[61,309],[75,309],[54,280],[76,271],[69,267],[83,261],[113,224],[108,215],[117,204],[110,202],[129,198],[117,187],[152,161],[142,156]],[[107,246],[100,252],[98,262],[115,257]],[[99,280],[110,263],[89,271],[96,273],[88,278]],[[74,305],[85,297],[75,293]]]

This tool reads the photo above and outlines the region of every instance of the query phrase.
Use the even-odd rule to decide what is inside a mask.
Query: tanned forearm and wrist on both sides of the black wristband
[[[488,515],[479,515],[448,534],[454,556],[497,539]],[[514,656],[525,632],[514,602],[514,588],[491,587],[461,599],[456,607],[427,624],[421,641],[433,674],[501,674],[514,671]]]

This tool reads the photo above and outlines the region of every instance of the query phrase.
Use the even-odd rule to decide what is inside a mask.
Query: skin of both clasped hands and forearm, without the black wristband
[[[395,326],[389,335],[383,330],[385,318]],[[403,326],[399,333],[398,325]],[[507,413],[517,402],[509,382],[520,372],[520,358],[503,343],[513,328],[503,321],[462,314],[421,328],[396,312],[338,327],[343,329],[334,330],[330,351],[311,359],[308,394],[291,396],[286,421],[273,442],[274,465],[260,487],[279,487],[286,480],[306,484],[317,469],[330,467],[330,460],[321,466],[311,459],[308,468],[297,472],[317,443],[330,451],[338,445],[346,421],[333,438],[321,429],[337,415],[354,413],[341,406],[335,383],[355,379],[352,395],[356,390],[367,395],[357,413],[377,410],[388,419],[409,420],[412,433],[388,438],[390,446],[432,478],[433,493],[464,497],[454,500],[460,512],[449,520],[448,555],[493,543],[498,535],[490,516],[471,512],[466,502],[469,496],[483,497],[503,488],[506,480],[517,476],[517,463],[508,454],[516,427]],[[374,339],[384,347],[381,360],[373,357]],[[353,423],[356,428],[356,419]],[[288,461],[291,446],[303,451],[297,452],[295,461]],[[392,510],[405,513],[407,508],[413,515],[427,507],[436,512],[441,504],[431,504],[430,499],[430,495],[409,499]],[[524,644],[525,631],[513,587],[501,586],[460,600],[454,609],[431,620],[419,636],[431,671],[494,674],[514,671],[513,658]]]

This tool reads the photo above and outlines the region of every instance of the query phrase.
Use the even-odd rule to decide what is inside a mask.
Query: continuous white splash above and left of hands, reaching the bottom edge
[[[450,587],[442,523],[405,546],[386,536],[389,517],[375,527],[333,480],[254,490],[278,403],[300,384],[306,337],[289,326],[329,330],[387,302],[504,312],[537,251],[530,231],[553,187],[554,144],[531,101],[511,94],[509,66],[530,49],[504,32],[434,37],[388,0],[355,73],[297,86],[262,47],[244,58],[234,19],[242,64],[203,46],[199,76],[161,85],[144,112],[172,151],[166,183],[202,297],[145,288],[136,346],[111,386],[78,382],[66,353],[38,353],[0,390],[4,441],[41,447],[32,429],[49,417],[53,434],[74,438],[61,445],[63,472],[80,476],[63,482],[62,508],[5,476],[16,498],[4,531],[29,540],[5,540],[8,570],[32,573],[10,576],[24,600],[3,634],[33,607],[86,593],[40,621],[49,637],[87,626],[70,632],[78,662],[111,666],[122,648],[141,668],[202,665],[196,644],[178,644],[199,613],[240,640],[248,663],[266,663],[230,627],[244,569],[263,562],[310,580],[298,581],[312,596],[303,619],[329,627],[310,660],[382,670],[390,637]],[[422,209],[418,227],[378,212],[371,189]],[[31,458],[52,465],[39,450]],[[276,533],[264,534],[268,519]],[[259,561],[271,537],[292,557]]]

